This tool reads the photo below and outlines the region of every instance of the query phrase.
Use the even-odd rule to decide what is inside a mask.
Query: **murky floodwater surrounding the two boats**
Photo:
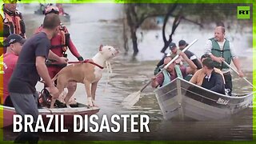
[[[26,21],[27,36],[30,38],[35,28],[42,23],[43,16],[35,15],[36,4],[21,6]],[[70,14],[71,20],[64,23],[70,32],[70,37],[83,58],[92,58],[98,52],[98,47],[103,45],[116,46],[122,51],[117,58],[112,60],[113,73],[108,74],[104,70],[103,77],[98,83],[96,92],[96,102],[100,107],[99,116],[103,114],[147,114],[150,117],[150,133],[76,133],[76,134],[40,134],[42,140],[58,141],[86,141],[86,140],[252,140],[252,108],[235,114],[231,118],[215,121],[166,121],[162,117],[157,99],[154,96],[154,89],[150,86],[142,91],[140,100],[131,109],[122,106],[122,100],[129,94],[138,91],[153,76],[154,68],[158,59],[162,58],[162,37],[155,38],[155,34],[161,35],[161,30],[150,30],[145,32],[144,38],[138,43],[140,53],[138,57],[132,58],[132,48],[125,54],[122,40],[122,5],[118,4],[73,4],[65,6],[66,13]],[[195,38],[198,42],[191,46],[198,57],[203,54],[203,47],[207,38],[213,36],[214,29],[202,30],[204,34],[199,34],[199,30],[187,34],[185,29],[187,23],[181,24],[174,35],[174,42],[183,38],[190,43]],[[170,28],[171,29],[171,28]],[[249,31],[249,32],[248,32]],[[232,31],[234,32],[234,31]],[[229,33],[229,32],[227,32]],[[195,36],[192,36],[195,34]],[[252,32],[247,30],[245,38],[250,39]],[[231,37],[231,34],[228,35]],[[232,38],[239,39],[242,35],[232,35]],[[249,40],[248,40],[249,41]],[[234,43],[238,56],[242,60],[242,70],[245,71],[246,78],[252,82],[252,46],[248,42],[238,41]],[[244,47],[240,49],[240,47]],[[244,53],[242,53],[244,51]],[[77,61],[68,53],[70,61]],[[249,93],[252,89],[241,78],[234,73],[234,93]],[[106,82],[108,82],[106,87]],[[42,85],[38,84],[38,91]],[[78,84],[75,92],[78,102],[86,103],[86,91],[82,84]],[[4,138],[14,139],[15,134],[11,130],[4,131]]]

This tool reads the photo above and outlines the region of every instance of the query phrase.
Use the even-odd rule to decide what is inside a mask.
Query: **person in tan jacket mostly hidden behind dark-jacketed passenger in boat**
[[[210,54],[203,54],[202,57],[201,57],[201,62],[203,62],[206,58],[210,58]],[[218,74],[221,74],[222,75],[222,78],[223,78],[223,82],[225,84],[225,78],[224,78],[224,75],[222,73],[222,70],[219,70],[217,69],[216,67],[214,67],[214,71]],[[202,69],[200,70],[197,70],[193,77],[190,79],[190,82],[191,83],[194,83],[198,86],[202,86],[202,80],[205,78],[206,74],[204,73],[204,71]]]

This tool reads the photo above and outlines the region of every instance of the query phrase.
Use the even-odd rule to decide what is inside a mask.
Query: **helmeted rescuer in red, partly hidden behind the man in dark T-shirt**
[[[48,6],[45,10],[45,15],[54,13],[58,14],[58,7],[57,6]],[[40,26],[37,30],[39,32],[42,30],[42,26]],[[66,56],[66,50],[67,47],[69,47],[71,53],[78,58],[78,61],[83,61],[82,56],[78,53],[78,50],[74,46],[74,43],[70,39],[70,34],[68,33],[68,30],[66,29],[66,26],[60,26],[60,30],[57,35],[54,36],[50,40],[50,50],[54,53],[57,54],[59,57]],[[50,74],[50,78],[54,78],[56,74],[60,70],[62,70],[63,67],[66,65],[59,65],[59,64],[51,64],[51,62],[54,61],[49,61],[46,63],[48,72]],[[68,89],[68,94],[67,95],[73,95],[74,91],[76,90],[77,83],[76,82],[69,82],[67,89]]]

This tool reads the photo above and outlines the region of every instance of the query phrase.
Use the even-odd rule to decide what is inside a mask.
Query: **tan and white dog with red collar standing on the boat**
[[[100,46],[98,53],[90,61],[80,64],[66,66],[52,79],[57,79],[57,88],[59,94],[62,93],[68,82],[80,82],[85,85],[88,106],[95,106],[95,93],[98,81],[102,78],[102,69],[106,65],[106,61],[118,55],[119,51],[113,46]],[[65,98],[66,106],[70,107],[70,98]],[[54,107],[56,99],[52,99],[50,108]]]

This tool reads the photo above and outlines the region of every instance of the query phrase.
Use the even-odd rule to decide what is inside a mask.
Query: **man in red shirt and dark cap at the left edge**
[[[25,38],[22,38],[18,34],[10,34],[6,41],[4,42],[4,46],[7,47],[6,54],[3,54],[3,62],[4,62],[4,74],[3,74],[3,101],[1,104],[5,106],[13,106],[10,100],[10,94],[8,91],[8,83],[10,81],[10,76],[14,72],[14,67],[18,61],[18,54],[22,50],[22,45],[26,41]]]

